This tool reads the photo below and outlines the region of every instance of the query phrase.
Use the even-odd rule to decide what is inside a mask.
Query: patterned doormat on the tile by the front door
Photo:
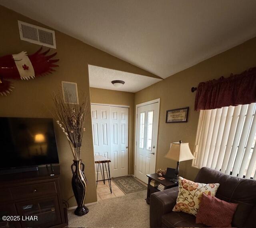
[[[114,177],[112,180],[126,195],[134,192],[141,192],[147,189],[144,184],[140,183],[133,176]]]

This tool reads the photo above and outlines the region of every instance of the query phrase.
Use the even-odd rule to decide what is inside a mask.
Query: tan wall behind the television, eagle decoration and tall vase
[[[0,56],[16,54],[22,50],[32,54],[40,48],[38,45],[20,40],[17,20],[42,26],[34,20],[0,6]],[[57,68],[54,74],[34,80],[13,80],[14,92],[7,97],[0,97],[0,116],[51,118],[52,114],[49,110],[53,105],[51,93],[60,89],[61,81],[76,82],[78,90],[85,92],[89,96],[88,64],[123,70],[134,74],[154,76],[66,34],[55,32],[58,52],[56,57],[60,59],[58,62],[60,67]],[[53,51],[55,50],[52,50],[51,53]],[[86,203],[90,203],[97,200],[90,114],[86,119],[85,127],[86,132],[83,138],[81,158],[86,165],[85,174],[88,179]],[[71,188],[72,172],[70,170],[73,158],[63,132],[56,125],[55,129],[61,165],[61,189],[64,199],[67,200],[73,196]],[[69,200],[69,203],[70,206],[76,205],[74,197]]]

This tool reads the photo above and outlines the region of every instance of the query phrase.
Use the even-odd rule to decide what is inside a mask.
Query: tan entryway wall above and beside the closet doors
[[[91,103],[116,104],[130,106],[129,108],[129,154],[128,173],[134,174],[134,93],[115,90],[104,90],[90,87]]]

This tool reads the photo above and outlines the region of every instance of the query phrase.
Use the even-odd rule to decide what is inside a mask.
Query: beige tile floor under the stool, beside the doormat
[[[109,198],[115,198],[118,196],[124,196],[124,193],[118,188],[118,186],[114,183],[114,181],[111,181],[112,186],[112,194],[110,193],[110,189],[108,186],[108,181],[103,184],[103,181],[98,182],[97,186],[97,197],[98,201],[100,200],[106,200]]]

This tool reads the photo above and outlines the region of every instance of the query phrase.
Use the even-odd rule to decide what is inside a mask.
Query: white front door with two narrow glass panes
[[[137,108],[136,178],[147,183],[146,174],[155,173],[159,102]]]

